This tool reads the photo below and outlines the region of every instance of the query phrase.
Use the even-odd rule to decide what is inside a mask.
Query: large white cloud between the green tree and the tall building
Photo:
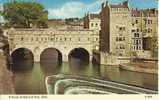
[[[60,8],[49,8],[49,18],[70,18],[83,17],[88,11],[99,11],[102,0],[90,4],[84,4],[79,1],[67,2]]]

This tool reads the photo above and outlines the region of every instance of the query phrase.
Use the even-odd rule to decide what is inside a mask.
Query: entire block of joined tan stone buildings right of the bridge
[[[102,4],[100,51],[116,56],[151,57],[157,47],[158,11],[130,9],[128,1],[122,4]]]

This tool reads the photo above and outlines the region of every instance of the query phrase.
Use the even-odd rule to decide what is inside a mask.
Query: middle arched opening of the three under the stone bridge
[[[62,53],[56,48],[47,48],[40,55],[41,67],[45,70],[62,65]]]

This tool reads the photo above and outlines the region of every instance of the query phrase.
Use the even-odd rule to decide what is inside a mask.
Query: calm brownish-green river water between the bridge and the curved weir
[[[24,63],[21,64],[21,67],[24,65]],[[120,69],[118,66],[62,63],[61,66],[52,67],[47,64],[42,66],[40,63],[34,63],[29,70],[14,71],[16,93],[46,94],[45,77],[55,74],[92,76],[153,90],[158,88],[157,75],[127,71]]]

